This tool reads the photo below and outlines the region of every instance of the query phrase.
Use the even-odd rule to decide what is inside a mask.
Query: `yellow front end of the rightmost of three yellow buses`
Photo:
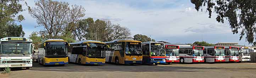
[[[142,64],[142,51],[140,41],[125,43],[124,64]]]

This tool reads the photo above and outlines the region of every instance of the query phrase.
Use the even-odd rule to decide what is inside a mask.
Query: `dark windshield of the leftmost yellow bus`
[[[61,41],[46,42],[45,48],[46,57],[66,57],[67,56],[67,44]]]

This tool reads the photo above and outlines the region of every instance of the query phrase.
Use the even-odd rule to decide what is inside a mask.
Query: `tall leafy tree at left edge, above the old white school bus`
[[[17,26],[14,23],[15,21],[21,22],[24,20],[23,15],[17,15],[25,10],[22,9],[21,1],[23,0],[0,0],[0,38],[24,36],[22,26]]]

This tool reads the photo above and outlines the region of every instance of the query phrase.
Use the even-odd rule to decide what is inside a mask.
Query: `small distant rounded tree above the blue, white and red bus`
[[[136,34],[133,36],[133,39],[134,40],[138,40],[138,41],[141,41],[141,42],[148,42],[148,41],[156,41],[154,39],[151,40],[151,38],[149,38],[148,36],[146,35],[142,35],[142,34]]]

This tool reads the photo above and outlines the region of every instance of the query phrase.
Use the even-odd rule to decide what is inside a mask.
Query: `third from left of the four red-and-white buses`
[[[225,62],[224,46],[207,46],[204,50],[205,62]]]

